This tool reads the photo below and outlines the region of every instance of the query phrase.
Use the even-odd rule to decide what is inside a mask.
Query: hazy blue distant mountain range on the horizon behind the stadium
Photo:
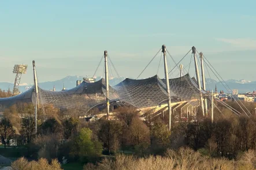
[[[96,80],[100,80],[102,77],[97,77]],[[125,77],[120,78],[110,78],[109,84],[111,86],[118,84],[119,82],[123,81]],[[41,82],[39,83],[40,88],[50,90],[53,89],[53,86],[55,86],[55,89],[57,91],[62,90],[63,86],[65,85],[66,89],[72,89],[76,86],[77,80],[83,80],[82,76],[67,76],[65,78],[62,78],[61,80],[56,81],[47,81],[47,82]],[[253,92],[253,90],[256,89],[256,81],[246,81],[246,80],[227,80],[225,82],[220,82],[213,80],[211,78],[206,78],[206,90],[214,91],[215,86],[217,85],[217,90],[220,92],[220,90],[224,90],[225,93],[231,92],[232,89],[238,89],[239,93],[245,93],[245,92]],[[225,86],[224,86],[225,85]],[[20,84],[20,91],[24,92],[29,87],[33,86],[33,84]],[[13,89],[13,84],[9,82],[0,82],[0,89],[2,90],[10,90]]]

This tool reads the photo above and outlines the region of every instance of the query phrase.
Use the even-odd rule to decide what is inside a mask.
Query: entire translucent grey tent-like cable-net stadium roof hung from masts
[[[106,83],[102,78],[96,82],[83,81],[73,89],[59,92],[39,89],[42,104],[52,104],[57,108],[83,108],[88,111],[92,107],[105,106]],[[200,91],[188,74],[180,78],[170,79],[170,99],[172,103],[181,100],[192,102],[198,99]],[[205,92],[202,92],[205,94]],[[110,103],[121,101],[136,108],[157,107],[161,103],[166,103],[168,94],[166,93],[165,80],[161,80],[158,75],[153,77],[132,80],[126,78],[115,86],[109,86],[108,99]],[[20,95],[0,99],[0,111],[17,103],[34,103],[34,87],[28,89]]]

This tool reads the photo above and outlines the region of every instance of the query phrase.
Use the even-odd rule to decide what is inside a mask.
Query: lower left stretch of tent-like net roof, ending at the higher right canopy
[[[38,90],[41,104],[52,104],[57,108],[80,107],[88,111],[96,105],[102,105],[106,100],[106,84],[104,79],[92,83],[83,81],[75,88],[59,92],[44,90],[39,87]],[[109,99],[116,100],[117,98],[116,93],[110,87]],[[34,86],[20,95],[1,98],[0,111],[4,111],[5,108],[19,103],[35,104]]]

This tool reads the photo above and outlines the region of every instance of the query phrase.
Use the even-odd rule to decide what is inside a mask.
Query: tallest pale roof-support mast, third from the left
[[[169,75],[168,67],[166,63],[166,46],[162,45],[162,53],[164,54],[164,65],[165,65],[165,81],[166,81],[166,92],[168,93],[168,112],[169,112],[169,130],[172,126],[172,110],[170,107],[170,86],[169,86]]]

